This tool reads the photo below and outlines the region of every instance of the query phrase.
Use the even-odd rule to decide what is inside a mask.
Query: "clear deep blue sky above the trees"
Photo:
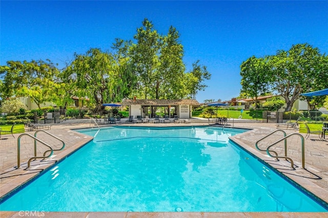
[[[183,61],[200,60],[212,79],[196,96],[230,100],[240,93],[240,64],[297,43],[328,54],[328,1],[1,1],[1,65],[50,59],[59,67],[90,48],[110,51],[133,39],[144,18],[161,34],[180,33]]]

